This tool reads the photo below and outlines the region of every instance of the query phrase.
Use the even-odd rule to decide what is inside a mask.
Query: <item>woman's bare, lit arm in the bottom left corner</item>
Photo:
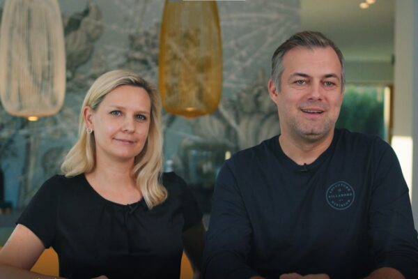
[[[18,224],[0,250],[0,278],[56,278],[30,271],[44,250],[38,236]]]

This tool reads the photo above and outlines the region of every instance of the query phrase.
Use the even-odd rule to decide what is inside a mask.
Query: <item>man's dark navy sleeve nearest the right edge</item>
[[[384,143],[369,207],[369,235],[376,268],[392,267],[405,278],[418,274],[418,239],[409,190],[398,158]]]

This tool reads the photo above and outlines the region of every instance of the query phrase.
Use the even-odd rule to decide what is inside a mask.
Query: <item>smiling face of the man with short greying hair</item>
[[[331,47],[295,47],[283,57],[281,88],[269,82],[282,135],[316,141],[333,135],[343,101],[341,64]]]

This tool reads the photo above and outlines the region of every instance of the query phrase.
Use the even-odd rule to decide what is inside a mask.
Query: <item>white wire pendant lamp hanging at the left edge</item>
[[[0,98],[8,113],[36,120],[61,109],[64,45],[58,1],[5,1],[0,30]]]

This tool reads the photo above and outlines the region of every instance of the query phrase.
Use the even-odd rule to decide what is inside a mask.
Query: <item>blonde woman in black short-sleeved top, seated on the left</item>
[[[160,114],[159,94],[134,73],[93,83],[65,176],[47,180],[17,220],[0,278],[53,278],[29,271],[49,246],[63,278],[179,278],[183,248],[199,273],[202,216],[183,179],[161,173]]]

